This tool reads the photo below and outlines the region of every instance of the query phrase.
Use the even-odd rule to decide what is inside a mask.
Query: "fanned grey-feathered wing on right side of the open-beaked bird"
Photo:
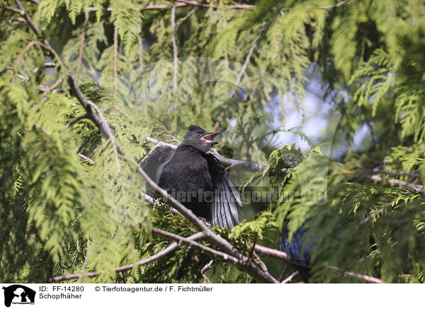
[[[208,168],[214,186],[214,200],[211,205],[212,224],[232,229],[239,224],[239,210],[242,200],[223,164],[212,154],[206,154]]]

